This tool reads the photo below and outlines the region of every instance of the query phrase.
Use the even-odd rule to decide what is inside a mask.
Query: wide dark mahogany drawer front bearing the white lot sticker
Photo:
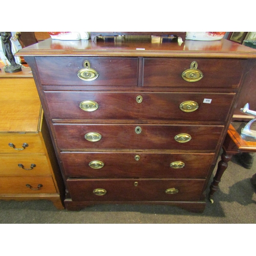
[[[226,120],[234,98],[232,93],[47,91],[45,95],[51,119],[86,119],[93,122],[100,119],[109,122],[145,119],[220,122]],[[188,109],[180,109],[183,102],[186,102]],[[195,104],[198,109],[185,112],[190,111],[191,104]]]

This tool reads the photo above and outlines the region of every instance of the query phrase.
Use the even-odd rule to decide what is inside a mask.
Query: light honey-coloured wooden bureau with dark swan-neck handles
[[[0,200],[47,199],[63,209],[63,182],[31,70],[1,68]]]

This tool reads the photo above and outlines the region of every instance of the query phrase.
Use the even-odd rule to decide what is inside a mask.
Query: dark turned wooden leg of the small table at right
[[[209,200],[211,201],[211,203],[214,202],[214,200],[212,200],[211,197],[218,190],[218,186],[221,181],[221,177],[222,177],[223,173],[225,172],[225,170],[228,166],[228,162],[230,161],[231,157],[232,157],[232,155],[228,155],[225,152],[225,150],[223,150],[223,153],[221,155],[221,161],[219,161],[219,163],[218,163],[218,168],[217,168],[216,175],[214,177],[214,181],[212,181],[212,183],[210,185]]]

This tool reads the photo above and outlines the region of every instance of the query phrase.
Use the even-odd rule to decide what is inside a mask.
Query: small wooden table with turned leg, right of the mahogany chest
[[[240,152],[256,152],[256,139],[241,134],[241,129],[246,125],[245,122],[231,122],[229,125],[226,138],[223,143],[223,153],[221,160],[218,163],[218,168],[214,181],[210,185],[209,200],[211,203],[212,196],[217,191],[221,177],[228,167],[228,162],[231,160],[232,155],[236,155]],[[256,130],[256,121],[251,125],[251,130]],[[251,178],[251,183],[256,186],[256,174]]]

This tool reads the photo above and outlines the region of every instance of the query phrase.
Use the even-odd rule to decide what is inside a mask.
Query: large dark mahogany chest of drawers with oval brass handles
[[[205,191],[256,51],[225,39],[54,41],[18,53],[32,68],[65,205],[205,208]]]

